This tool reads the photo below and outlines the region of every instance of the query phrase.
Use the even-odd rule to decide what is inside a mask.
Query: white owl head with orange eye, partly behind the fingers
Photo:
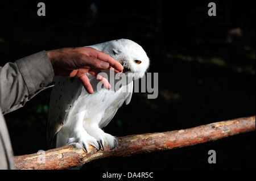
[[[150,64],[143,48],[128,39],[108,41],[103,44],[102,52],[109,54],[123,65],[123,73],[133,73],[134,79],[142,78]]]

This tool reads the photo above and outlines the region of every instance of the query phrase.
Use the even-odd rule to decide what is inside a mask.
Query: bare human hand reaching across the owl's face
[[[101,70],[109,69],[110,66],[116,71],[123,70],[123,66],[111,56],[90,47],[61,48],[49,50],[46,53],[55,75],[79,78],[89,94],[93,93],[93,88],[87,73],[97,78]],[[98,79],[110,89],[110,83],[106,78],[98,76]]]

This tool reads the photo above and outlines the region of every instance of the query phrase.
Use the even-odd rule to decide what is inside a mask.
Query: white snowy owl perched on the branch
[[[113,80],[110,74],[117,73],[110,69],[104,70],[102,72],[108,75],[111,88],[102,91],[98,89],[97,78],[88,74],[94,90],[93,94],[89,94],[79,79],[55,77],[55,86],[49,103],[47,130],[48,143],[52,146],[76,144],[77,148],[86,152],[88,144],[97,150],[103,150],[104,144],[110,149],[115,148],[115,137],[102,131],[102,128],[109,124],[123,102],[129,104],[133,80],[142,78],[148,69],[147,54],[134,41],[119,39],[89,47],[107,53],[120,62],[124,69],[122,73],[118,73],[118,77],[126,77],[128,81],[125,85],[119,83],[116,86],[118,80]]]

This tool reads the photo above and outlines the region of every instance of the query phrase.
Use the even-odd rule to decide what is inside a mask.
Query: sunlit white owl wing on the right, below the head
[[[115,98],[114,102],[108,108],[106,108],[104,116],[99,124],[100,128],[106,127],[106,125],[109,124],[117,110],[122,106],[123,102],[125,102],[126,105],[130,103],[131,95],[133,94],[133,82],[129,83],[129,85],[125,87],[122,87],[122,89],[127,89],[127,92],[123,93],[121,91],[121,93]]]

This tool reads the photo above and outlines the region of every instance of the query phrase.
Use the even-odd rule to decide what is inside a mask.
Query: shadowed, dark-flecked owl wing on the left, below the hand
[[[64,78],[56,76],[55,86],[51,92],[49,102],[49,117],[47,124],[47,141],[51,145],[56,133],[68,119],[76,100],[81,95],[82,84],[77,78]]]

